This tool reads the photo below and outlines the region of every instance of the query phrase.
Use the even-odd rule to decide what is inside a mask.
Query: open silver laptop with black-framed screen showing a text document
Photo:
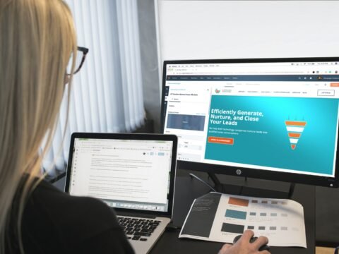
[[[177,136],[73,133],[65,191],[114,208],[137,254],[172,220]]]

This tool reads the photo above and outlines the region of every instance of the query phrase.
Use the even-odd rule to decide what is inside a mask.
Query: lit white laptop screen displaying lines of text
[[[76,138],[69,193],[110,207],[167,212],[173,142]]]

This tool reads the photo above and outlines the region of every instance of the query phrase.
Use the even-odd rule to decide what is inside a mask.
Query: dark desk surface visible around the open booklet
[[[173,222],[177,226],[182,226],[186,214],[189,212],[191,203],[195,198],[208,193],[208,188],[202,183],[191,179],[188,176],[177,177],[174,193],[174,215]],[[306,226],[308,248],[279,248],[271,247],[274,254],[314,254],[315,253],[315,187],[297,184],[293,200],[304,206],[304,217]],[[222,243],[208,241],[197,241],[193,239],[179,239],[179,230],[165,231],[160,240],[150,253],[218,253]],[[269,243],[268,243],[269,244]]]

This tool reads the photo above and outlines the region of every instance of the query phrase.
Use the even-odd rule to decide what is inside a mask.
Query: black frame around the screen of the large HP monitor
[[[258,58],[258,59],[194,59],[194,60],[171,60],[164,61],[162,68],[162,101],[161,101],[161,132],[165,129],[165,86],[166,86],[166,71],[169,64],[209,64],[209,63],[286,63],[286,62],[317,62],[317,61],[336,61],[339,62],[339,56],[335,57],[303,57],[303,58]],[[339,131],[339,128],[338,128]],[[314,186],[327,186],[338,188],[338,167],[339,167],[339,149],[337,140],[337,151],[335,159],[335,176],[314,176],[307,174],[287,173],[279,171],[270,171],[263,169],[251,169],[246,167],[232,167],[218,164],[208,164],[202,162],[186,162],[177,160],[178,169],[187,169],[194,171],[203,171],[212,174],[225,174],[230,176],[243,176],[255,179],[266,179],[273,181],[285,181],[290,183],[304,183]]]

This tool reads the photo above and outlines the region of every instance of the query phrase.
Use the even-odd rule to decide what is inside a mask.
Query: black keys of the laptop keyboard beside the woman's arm
[[[124,229],[129,240],[147,241],[153,231],[159,226],[160,221],[155,219],[137,219],[118,217],[120,226]]]

